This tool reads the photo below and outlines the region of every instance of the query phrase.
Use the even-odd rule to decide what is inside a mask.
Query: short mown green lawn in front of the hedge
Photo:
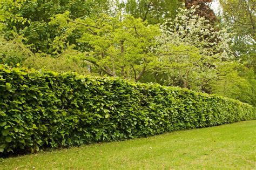
[[[5,158],[0,169],[256,169],[256,120]]]

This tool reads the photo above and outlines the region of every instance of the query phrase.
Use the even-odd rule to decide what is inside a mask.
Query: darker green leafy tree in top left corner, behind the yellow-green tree
[[[0,5],[0,22],[6,25],[4,29],[5,37],[12,39],[12,31],[15,29],[17,33],[24,35],[27,39],[26,43],[31,45],[31,50],[34,53],[39,51],[51,53],[50,44],[55,37],[59,36],[56,28],[49,25],[53,15],[69,11],[71,19],[97,18],[97,14],[109,10],[108,7],[107,0],[4,0]],[[69,42],[75,43],[77,36],[81,34],[79,31],[74,31],[74,34],[68,37]],[[84,44],[77,44],[76,47],[77,49],[83,49]]]

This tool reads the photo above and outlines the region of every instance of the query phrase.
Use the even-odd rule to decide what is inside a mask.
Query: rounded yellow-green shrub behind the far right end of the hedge
[[[218,78],[211,85],[213,93],[256,105],[253,69],[248,69],[238,62],[223,62],[218,70]]]

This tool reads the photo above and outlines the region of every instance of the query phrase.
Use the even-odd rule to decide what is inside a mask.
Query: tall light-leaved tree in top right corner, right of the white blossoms
[[[254,67],[256,71],[256,13],[255,1],[221,0],[223,18],[233,32],[235,32],[233,53],[247,67]]]

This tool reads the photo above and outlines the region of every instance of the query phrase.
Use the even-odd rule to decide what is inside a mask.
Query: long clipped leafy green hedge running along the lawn
[[[254,119],[238,100],[0,65],[0,152],[35,152]]]

